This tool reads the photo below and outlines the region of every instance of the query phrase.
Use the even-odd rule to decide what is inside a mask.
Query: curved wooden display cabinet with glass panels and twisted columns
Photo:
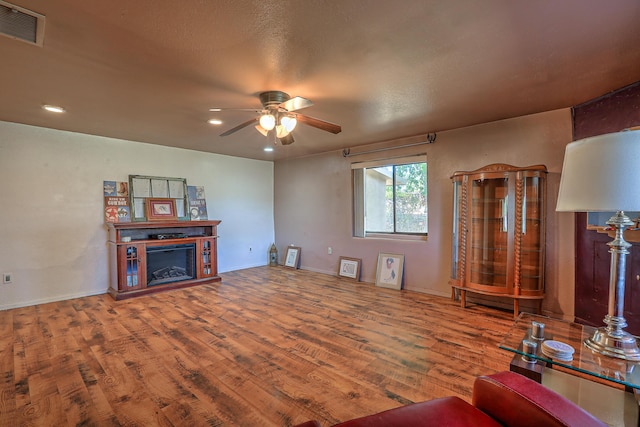
[[[456,172],[453,181],[452,298],[466,293],[544,298],[547,169],[492,164]]]

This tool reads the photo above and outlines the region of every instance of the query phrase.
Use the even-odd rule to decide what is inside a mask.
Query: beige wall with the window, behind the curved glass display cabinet
[[[345,129],[348,132],[348,129]],[[452,185],[458,170],[490,163],[544,164],[549,170],[547,209],[547,297],[543,310],[573,316],[573,214],[556,213],[564,148],[571,141],[569,109],[439,132],[434,144],[394,152],[425,153],[429,180],[427,241],[352,237],[351,162],[342,152],[275,164],[275,234],[280,255],[287,245],[302,247],[302,268],[335,274],[338,258],[362,259],[362,277],[375,282],[378,252],[405,255],[406,289],[451,294]],[[376,145],[377,146],[377,145]],[[366,147],[360,147],[364,150]],[[354,150],[357,151],[357,150]],[[391,155],[385,152],[382,155]],[[368,158],[380,157],[380,154]],[[328,254],[328,247],[332,254]]]

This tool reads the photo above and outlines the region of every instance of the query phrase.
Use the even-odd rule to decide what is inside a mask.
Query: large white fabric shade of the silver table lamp
[[[640,130],[569,143],[556,211],[640,211]]]

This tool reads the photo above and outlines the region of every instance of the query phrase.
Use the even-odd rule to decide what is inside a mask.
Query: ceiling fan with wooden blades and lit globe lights
[[[298,110],[313,105],[313,102],[306,98],[300,96],[291,98],[288,94],[279,90],[262,92],[259,97],[262,103],[262,108],[259,109],[211,108],[209,111],[250,111],[258,113],[256,117],[240,123],[238,126],[220,134],[220,136],[231,135],[240,129],[257,123],[255,127],[260,133],[274,138],[274,141],[279,140],[282,145],[289,145],[294,142],[291,132],[298,122],[334,134],[342,131],[339,125],[297,113]]]

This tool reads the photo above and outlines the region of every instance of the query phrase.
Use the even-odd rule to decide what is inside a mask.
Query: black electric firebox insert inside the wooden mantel
[[[196,245],[147,246],[147,286],[196,278]]]

